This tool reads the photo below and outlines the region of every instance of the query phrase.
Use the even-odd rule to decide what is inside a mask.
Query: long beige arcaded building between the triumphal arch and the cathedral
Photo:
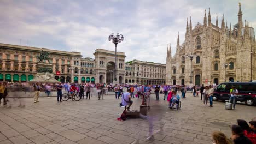
[[[166,65],[133,60],[125,63],[125,83],[165,84]]]

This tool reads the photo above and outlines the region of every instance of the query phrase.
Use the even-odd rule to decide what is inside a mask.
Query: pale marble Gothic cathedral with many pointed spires
[[[254,28],[242,20],[239,3],[238,23],[231,27],[225,22],[224,15],[218,26],[211,21],[210,8],[208,19],[203,25],[197,23],[194,29],[187,19],[185,41],[179,44],[172,56],[171,47],[167,48],[166,83],[168,85],[209,85],[228,81],[256,80],[256,42]],[[193,58],[193,59],[192,59]]]

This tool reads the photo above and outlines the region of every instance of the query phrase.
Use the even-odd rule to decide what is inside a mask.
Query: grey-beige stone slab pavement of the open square
[[[230,136],[230,124],[236,119],[249,121],[255,117],[256,107],[238,104],[235,110],[225,110],[224,103],[214,102],[213,107],[203,106],[199,97],[187,94],[182,99],[181,110],[170,110],[167,101],[151,103],[163,107],[162,122],[164,131],[154,134],[155,140],[146,140],[149,124],[143,119],[118,121],[123,107],[114,95],[104,96],[104,100],[92,97],[80,100],[57,103],[56,97],[22,98],[24,108],[17,107],[19,99],[11,100],[12,108],[0,107],[0,144],[2,143],[212,143],[211,133],[223,131]],[[139,110],[141,99],[133,99],[131,107]],[[154,132],[159,124],[154,123]]]

